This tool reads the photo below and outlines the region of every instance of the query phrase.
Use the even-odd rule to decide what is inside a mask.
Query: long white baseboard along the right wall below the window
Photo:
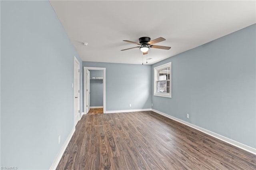
[[[165,117],[168,117],[168,118],[170,118],[170,119],[172,119],[172,120],[174,120],[174,121],[177,121],[177,122],[180,122],[180,123],[182,123],[182,124],[184,124],[184,125],[187,125],[187,126],[189,126],[189,127],[192,127],[192,128],[194,128],[194,129],[196,129],[196,130],[199,130],[199,131],[201,131],[201,132],[204,132],[204,133],[206,133],[206,134],[209,134],[210,136],[213,136],[214,138],[217,138],[217,139],[220,139],[220,140],[222,140],[222,141],[224,141],[224,142],[227,142],[227,143],[229,143],[229,144],[232,144],[232,145],[234,145],[234,146],[236,146],[236,147],[238,147],[238,148],[241,148],[241,149],[243,149],[243,150],[246,150],[247,152],[250,152],[250,153],[252,153],[252,154],[256,154],[256,148],[252,148],[252,147],[250,147],[250,146],[247,146],[247,145],[245,145],[245,144],[242,144],[242,143],[237,142],[237,141],[235,141],[235,140],[232,140],[232,139],[230,139],[230,138],[224,137],[224,136],[222,136],[222,135],[220,135],[220,134],[217,134],[217,133],[214,133],[214,132],[212,132],[212,131],[210,131],[210,130],[206,130],[206,129],[204,129],[204,128],[198,127],[198,126],[193,125],[193,124],[191,124],[191,123],[188,123],[188,122],[186,122],[186,121],[182,121],[181,119],[178,119],[178,118],[176,118],[176,117],[170,116],[170,115],[168,115],[168,114],[166,114],[166,113],[162,113],[162,112],[157,111],[157,110],[155,110],[155,109],[152,109],[152,111],[154,111],[154,112],[156,112],[156,113],[158,113],[158,114],[160,114],[160,115],[163,115],[163,116],[165,116]]]

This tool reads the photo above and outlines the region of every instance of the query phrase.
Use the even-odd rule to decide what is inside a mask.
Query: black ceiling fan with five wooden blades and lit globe
[[[131,42],[131,41],[128,41],[128,40],[123,40],[124,42],[135,43],[135,44],[140,45],[140,46],[122,49],[121,51],[125,51],[127,49],[133,49],[133,48],[140,48],[140,51],[142,51],[143,54],[147,54],[149,48],[158,48],[158,49],[167,49],[167,50],[171,48],[171,47],[167,47],[167,46],[153,45],[155,43],[164,41],[165,39],[162,38],[162,37],[156,38],[155,40],[152,40],[152,41],[150,41],[150,40],[151,39],[149,37],[141,37],[141,38],[139,38],[139,42],[140,43]]]

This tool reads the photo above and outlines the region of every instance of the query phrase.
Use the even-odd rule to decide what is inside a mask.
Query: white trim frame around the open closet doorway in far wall
[[[86,113],[86,70],[103,70],[103,113],[106,113],[106,68],[84,67],[84,113]]]

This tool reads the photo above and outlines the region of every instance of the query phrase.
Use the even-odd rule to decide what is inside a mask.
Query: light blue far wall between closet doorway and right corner
[[[151,65],[83,61],[83,66],[106,68],[106,111],[151,108]]]

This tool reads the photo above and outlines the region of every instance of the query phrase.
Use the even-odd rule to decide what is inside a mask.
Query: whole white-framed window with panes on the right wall
[[[154,95],[172,97],[172,62],[154,67]]]

